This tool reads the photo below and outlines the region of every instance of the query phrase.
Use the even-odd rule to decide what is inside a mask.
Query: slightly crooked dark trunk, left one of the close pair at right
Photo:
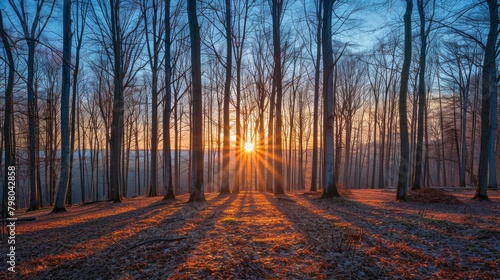
[[[396,190],[396,200],[406,200],[408,187],[408,164],[410,162],[410,144],[408,140],[408,116],[406,112],[406,99],[408,97],[408,80],[410,76],[411,63],[411,12],[413,0],[406,0],[406,11],[404,15],[405,43],[404,60],[401,70],[401,86],[399,89],[399,137],[401,144],[401,156],[399,161],[399,176]]]

